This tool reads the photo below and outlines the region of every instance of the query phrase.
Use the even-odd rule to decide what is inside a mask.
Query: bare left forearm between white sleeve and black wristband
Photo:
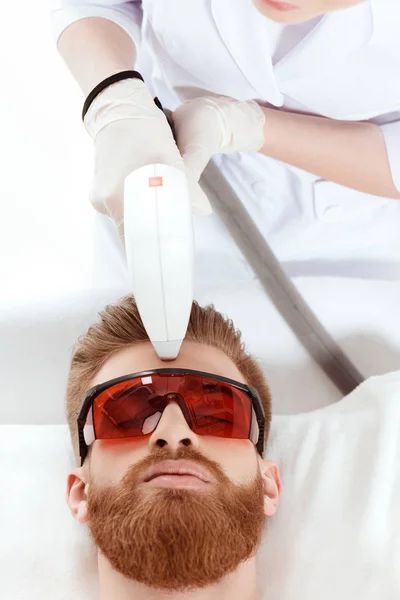
[[[119,25],[99,17],[72,23],[58,50],[85,96],[103,79],[133,69],[135,44]]]

